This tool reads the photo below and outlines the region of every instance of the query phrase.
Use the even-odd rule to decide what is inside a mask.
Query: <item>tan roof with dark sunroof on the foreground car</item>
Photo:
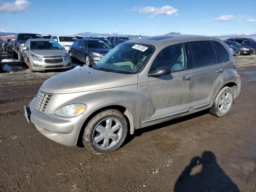
[[[192,39],[207,38],[207,37],[208,36],[202,36],[202,35],[162,35],[162,36],[151,36],[151,37],[146,37],[141,39],[133,39],[124,43],[150,44],[158,48],[161,45],[170,43],[172,41],[192,40]]]

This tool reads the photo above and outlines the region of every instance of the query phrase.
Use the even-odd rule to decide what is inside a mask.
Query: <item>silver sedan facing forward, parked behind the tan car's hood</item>
[[[49,39],[29,39],[22,48],[23,62],[30,72],[53,69],[70,69],[68,53],[56,41]]]

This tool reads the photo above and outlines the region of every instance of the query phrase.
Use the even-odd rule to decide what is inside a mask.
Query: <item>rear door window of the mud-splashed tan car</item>
[[[210,41],[189,42],[194,67],[217,63],[217,56]]]

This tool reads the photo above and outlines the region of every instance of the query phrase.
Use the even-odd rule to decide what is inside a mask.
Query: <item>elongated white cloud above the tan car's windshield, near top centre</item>
[[[145,14],[150,14],[152,17],[154,16],[164,16],[164,15],[178,15],[178,9],[173,8],[172,6],[166,5],[163,6],[161,8],[159,7],[150,7],[150,6],[146,6],[146,7],[134,7],[133,9],[128,9],[125,11],[138,11],[139,13],[145,13]]]

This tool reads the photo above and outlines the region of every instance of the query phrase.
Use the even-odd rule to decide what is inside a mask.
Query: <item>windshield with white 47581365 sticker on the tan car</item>
[[[122,43],[108,52],[95,68],[116,73],[136,74],[146,65],[154,49],[152,45]]]

